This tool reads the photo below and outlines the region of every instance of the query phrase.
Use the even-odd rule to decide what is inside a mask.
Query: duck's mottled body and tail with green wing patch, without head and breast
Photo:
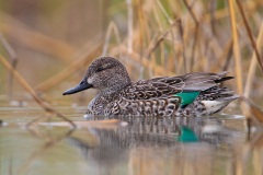
[[[140,80],[125,88],[107,105],[106,115],[202,116],[222,109],[237,98],[220,82],[232,79],[221,73],[187,73]]]

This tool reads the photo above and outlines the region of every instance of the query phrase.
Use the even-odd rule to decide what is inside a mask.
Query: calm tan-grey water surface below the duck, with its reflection
[[[243,116],[87,121],[84,107],[57,110],[78,129],[57,119],[28,129],[28,121],[48,114],[39,107],[0,108],[1,175],[263,174],[263,132],[253,131],[248,141]],[[181,125],[199,141],[178,141]]]

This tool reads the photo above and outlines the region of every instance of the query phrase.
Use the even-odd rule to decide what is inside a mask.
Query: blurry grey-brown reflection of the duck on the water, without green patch
[[[204,120],[199,118],[153,117],[118,119],[128,122],[128,125],[126,127],[116,127],[112,129],[89,128],[88,130],[95,138],[93,142],[87,142],[80,137],[69,137],[67,139],[70,145],[73,145],[80,151],[89,166],[93,167],[93,171],[98,168],[96,171],[99,172],[96,173],[99,174],[102,172],[123,174],[123,172],[116,173],[114,171],[127,170],[128,166],[130,166],[130,158],[141,151],[141,154],[151,152],[157,155],[159,152],[158,159],[163,159],[161,158],[164,156],[162,155],[162,151],[164,151],[163,153],[169,153],[169,151],[171,151],[169,154],[174,158],[180,158],[182,156],[182,152],[185,153],[185,149],[187,148],[190,148],[187,151],[188,153],[195,152],[196,149],[201,149],[203,150],[202,152],[205,153],[217,144],[226,141],[226,128],[222,128],[221,122],[217,119]],[[201,138],[201,142],[194,143],[194,145],[191,144],[190,147],[178,142],[178,136],[180,135],[182,125],[191,128],[196,136]],[[217,127],[216,132],[215,128],[213,133],[207,131],[204,132],[204,127],[209,125]],[[202,154],[198,155],[198,158],[202,158]]]

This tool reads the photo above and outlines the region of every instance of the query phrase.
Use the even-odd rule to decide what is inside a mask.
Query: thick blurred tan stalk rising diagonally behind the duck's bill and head
[[[60,83],[61,81],[64,81],[65,79],[70,77],[73,72],[78,71],[80,68],[83,68],[83,66],[87,66],[88,63],[90,63],[92,61],[92,59],[100,56],[99,52],[101,51],[101,48],[102,48],[101,44],[96,44],[96,45],[92,46],[92,48],[89,49],[89,51],[80,55],[76,59],[76,61],[70,63],[67,68],[65,68],[64,70],[61,70],[57,74],[53,75],[48,80],[46,80],[46,81],[42,82],[41,84],[36,85],[35,90],[46,91],[46,90],[57,85],[58,83]]]

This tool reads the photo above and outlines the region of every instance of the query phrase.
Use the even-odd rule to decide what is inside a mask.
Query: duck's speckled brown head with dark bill
[[[87,89],[106,90],[110,88],[124,88],[132,83],[125,67],[113,57],[101,57],[88,68],[84,78],[64,95],[75,94]]]

